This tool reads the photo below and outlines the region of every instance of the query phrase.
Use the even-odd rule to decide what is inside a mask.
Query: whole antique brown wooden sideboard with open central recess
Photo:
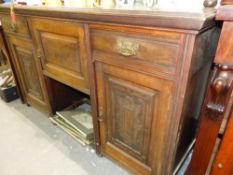
[[[92,102],[98,152],[138,175],[175,172],[193,144],[219,29],[200,13],[9,6],[0,18],[25,102]]]

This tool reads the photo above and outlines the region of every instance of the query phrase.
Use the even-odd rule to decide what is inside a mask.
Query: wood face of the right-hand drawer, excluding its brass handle
[[[101,61],[111,61],[114,56],[115,59],[120,59],[121,62],[125,62],[130,66],[134,66],[136,69],[146,68],[146,71],[160,69],[161,72],[168,74],[174,74],[177,59],[179,56],[182,35],[177,36],[177,39],[172,40],[172,33],[169,32],[157,32],[153,36],[137,35],[137,33],[126,31],[120,33],[118,31],[106,31],[106,30],[92,30],[92,48],[94,58]],[[106,37],[108,36],[108,37]],[[119,51],[118,45],[121,43],[134,43],[138,46],[138,50],[135,55],[124,57]],[[111,54],[112,57],[108,57],[104,54]],[[145,71],[145,70],[144,70]]]

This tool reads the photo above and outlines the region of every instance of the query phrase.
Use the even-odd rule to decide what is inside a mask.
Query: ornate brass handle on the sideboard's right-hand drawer
[[[134,56],[137,55],[139,49],[138,43],[133,43],[130,41],[117,41],[117,50],[123,56]]]

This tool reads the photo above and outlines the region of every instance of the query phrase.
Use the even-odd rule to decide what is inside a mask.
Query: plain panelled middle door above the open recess
[[[89,94],[84,27],[76,22],[30,19],[45,75]],[[64,27],[65,26],[65,27]]]

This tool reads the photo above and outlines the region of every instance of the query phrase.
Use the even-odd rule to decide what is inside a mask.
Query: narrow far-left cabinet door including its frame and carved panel
[[[17,74],[27,103],[43,111],[48,111],[42,90],[43,83],[39,74],[38,60],[34,56],[31,41],[9,36],[8,44],[14,57],[13,61],[17,67]]]

